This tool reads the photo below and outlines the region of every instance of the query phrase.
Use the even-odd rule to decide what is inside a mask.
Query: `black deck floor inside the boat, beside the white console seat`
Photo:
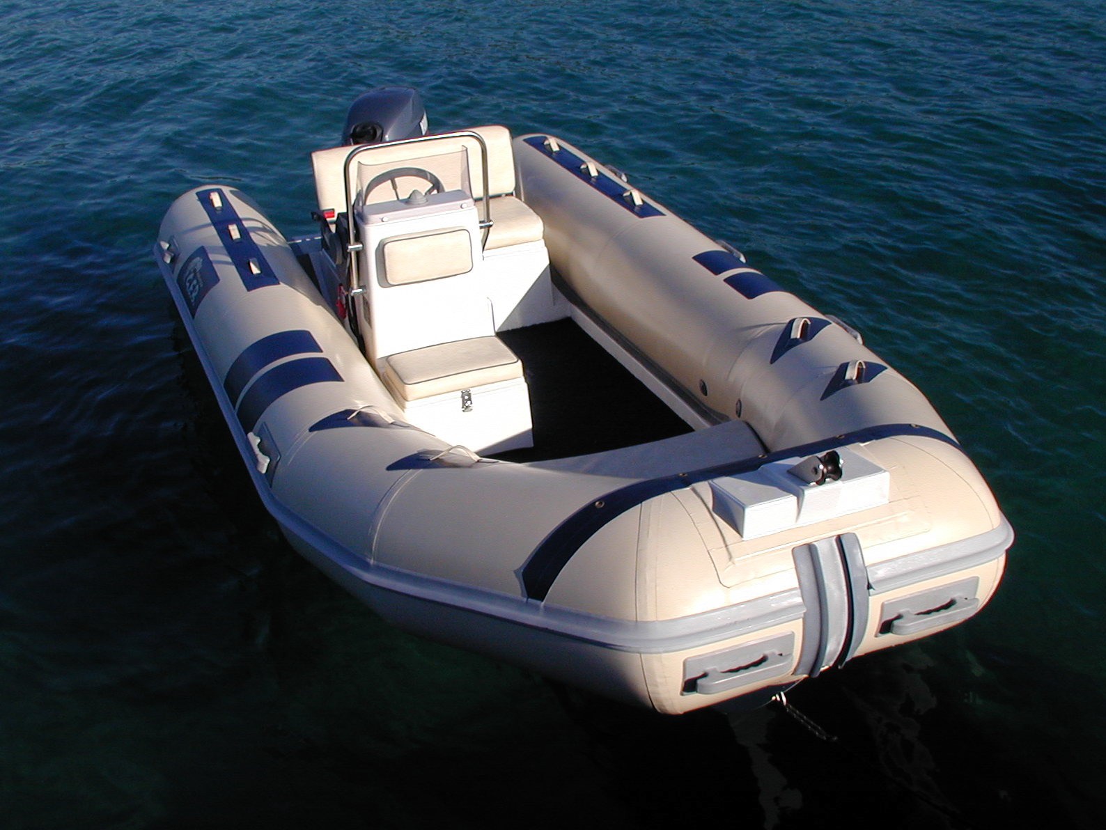
[[[522,359],[534,446],[493,458],[545,461],[691,431],[571,319],[500,332],[499,337]]]

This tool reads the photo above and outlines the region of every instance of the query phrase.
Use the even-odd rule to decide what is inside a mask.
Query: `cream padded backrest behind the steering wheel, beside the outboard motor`
[[[470,132],[479,134],[488,149],[488,193],[492,197],[513,193],[515,189],[514,151],[511,147],[510,130],[503,126],[490,125],[473,127]],[[356,146],[343,145],[325,150],[315,150],[311,154],[319,209],[320,212],[332,219],[346,209],[343,170],[346,158],[355,149],[357,149]],[[458,165],[457,154],[459,153],[463,154],[465,164],[462,165]],[[366,174],[362,169],[363,167],[377,170],[386,169],[387,166],[425,169],[437,176],[446,189],[465,190],[477,199],[483,197],[483,156],[479,143],[469,136],[447,134],[439,140],[374,145],[373,149],[359,153],[349,166],[351,197],[357,197],[359,188],[366,181],[376,178],[375,174]],[[409,196],[409,191],[404,192],[409,187],[425,190],[427,182],[425,180],[420,182],[417,177],[405,177],[399,196],[404,198]],[[375,196],[374,191],[369,195],[369,200],[377,200],[374,198]],[[380,189],[379,200],[394,198],[394,193],[389,193],[387,189]]]

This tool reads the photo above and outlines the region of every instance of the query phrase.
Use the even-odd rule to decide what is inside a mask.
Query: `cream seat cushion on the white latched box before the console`
[[[498,337],[439,343],[380,360],[388,387],[419,400],[522,377],[522,361]]]

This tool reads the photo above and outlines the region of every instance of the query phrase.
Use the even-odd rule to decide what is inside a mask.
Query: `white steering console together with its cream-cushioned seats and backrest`
[[[564,317],[505,127],[312,155],[351,329],[404,417],[476,452],[532,445],[522,364],[497,332]]]

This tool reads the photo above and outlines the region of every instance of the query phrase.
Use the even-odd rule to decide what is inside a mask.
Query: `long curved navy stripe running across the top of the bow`
[[[643,504],[649,498],[681,490],[701,481],[718,479],[723,475],[749,473],[773,461],[795,455],[813,455],[836,446],[843,446],[844,444],[859,441],[875,441],[880,438],[890,438],[894,435],[920,435],[943,441],[958,449],[960,446],[956,439],[929,427],[919,427],[912,423],[888,423],[880,427],[856,430],[844,435],[822,439],[821,441],[813,441],[802,446],[791,446],[768,455],[740,459],[688,473],[666,475],[660,479],[628,484],[581,507],[562,522],[534,549],[526,564],[522,566],[522,585],[525,588],[526,597],[544,600],[550,588],[553,587],[553,582],[564,569],[564,566],[568,564],[568,560],[572,559],[576,551],[592,536],[626,511]]]

